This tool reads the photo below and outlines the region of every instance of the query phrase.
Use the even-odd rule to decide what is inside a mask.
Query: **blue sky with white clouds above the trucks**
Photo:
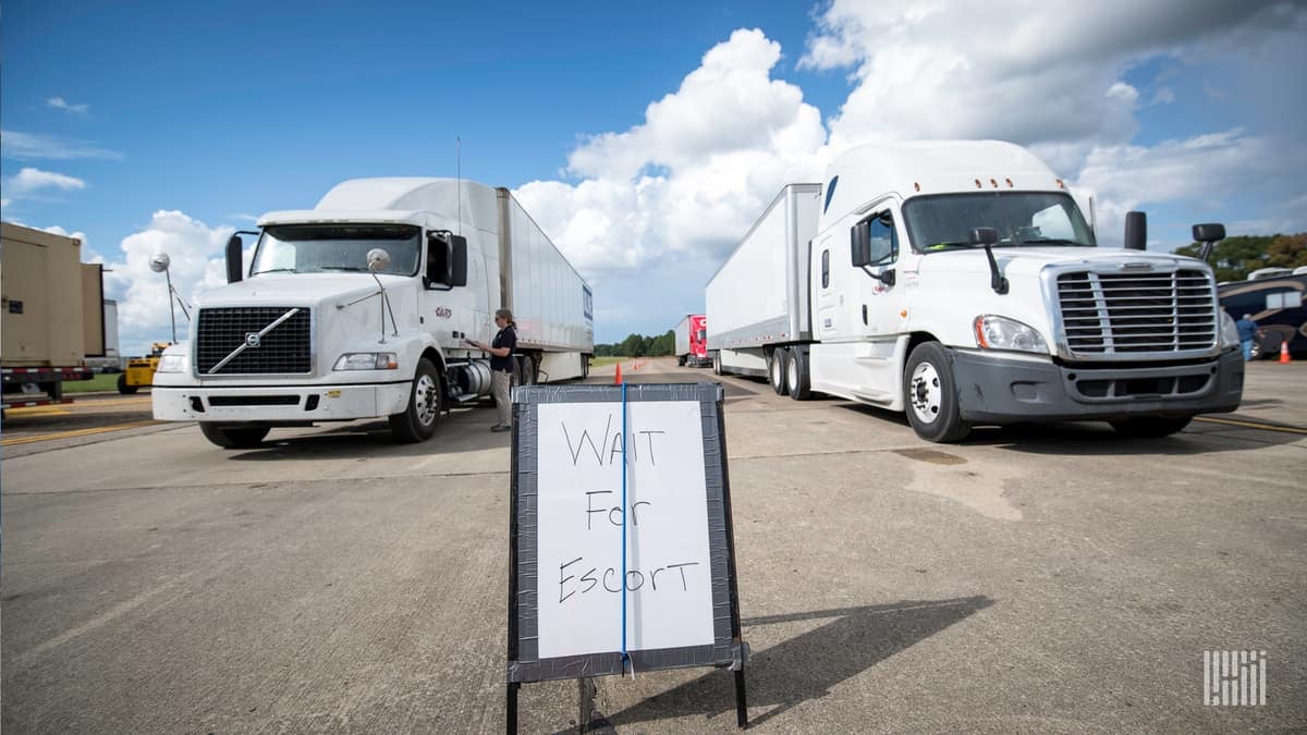
[[[0,208],[78,233],[124,352],[221,243],[340,180],[512,188],[595,285],[596,339],[660,333],[788,180],[860,143],[997,137],[1125,211],[1307,230],[1307,4],[35,3],[0,7]],[[1091,5],[1091,7],[1090,7]]]

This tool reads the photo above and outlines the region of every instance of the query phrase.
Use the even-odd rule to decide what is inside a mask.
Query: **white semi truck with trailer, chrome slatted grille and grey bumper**
[[[708,350],[797,400],[904,411],[935,442],[1070,420],[1166,436],[1238,408],[1243,361],[1212,269],[1142,233],[1098,247],[1013,144],[855,148],[825,184],[784,187],[708,281]]]

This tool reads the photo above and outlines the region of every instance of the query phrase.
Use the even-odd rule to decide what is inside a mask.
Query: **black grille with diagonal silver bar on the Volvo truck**
[[[205,375],[227,360],[248,335],[257,335],[294,306],[238,306],[201,309],[196,323],[195,365]],[[217,370],[217,375],[307,374],[312,371],[310,311],[298,311],[246,347]]]

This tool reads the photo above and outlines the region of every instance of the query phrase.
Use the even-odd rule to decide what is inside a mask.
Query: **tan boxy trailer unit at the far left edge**
[[[0,333],[4,408],[72,403],[64,381],[89,381],[86,357],[105,354],[102,265],[80,239],[0,224]]]

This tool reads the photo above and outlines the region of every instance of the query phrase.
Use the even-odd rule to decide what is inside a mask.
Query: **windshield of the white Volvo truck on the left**
[[[259,273],[367,272],[367,251],[391,255],[382,273],[417,273],[421,229],[412,225],[272,225],[254,251],[251,276]]]

